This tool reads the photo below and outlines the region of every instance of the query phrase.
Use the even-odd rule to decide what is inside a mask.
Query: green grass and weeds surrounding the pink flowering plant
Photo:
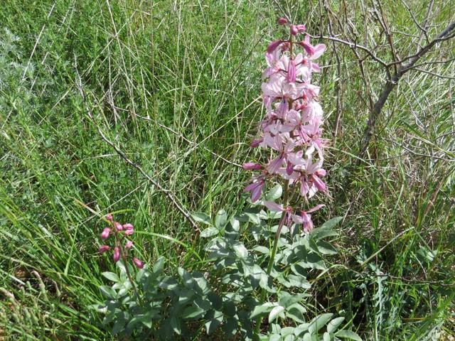
[[[439,0],[0,7],[0,340],[112,338],[88,308],[102,300],[100,273],[114,269],[97,254],[95,212],[134,224],[141,259],[204,269],[188,251],[203,254],[193,227],[100,131],[188,212],[233,213],[246,205],[239,164],[257,153],[249,144],[264,114],[264,51],[284,35],[277,17],[358,39],[390,63],[455,16]],[[454,40],[398,82],[361,157],[386,73],[365,50],[316,40],[328,46],[315,82],[331,195],[314,217],[344,220],[338,265],[313,278],[309,315],[343,311],[365,340],[454,340]]]

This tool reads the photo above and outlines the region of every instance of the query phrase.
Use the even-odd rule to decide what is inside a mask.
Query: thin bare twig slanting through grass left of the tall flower
[[[102,130],[100,129],[100,127],[96,124],[96,121],[95,121],[95,117],[93,116],[92,114],[92,111],[90,110],[90,107],[88,106],[87,104],[87,98],[85,96],[85,92],[84,90],[82,89],[82,79],[80,77],[80,74],[77,70],[77,67],[76,67],[76,73],[77,73],[77,80],[76,80],[76,86],[77,88],[79,89],[79,92],[80,92],[80,96],[82,97],[82,102],[84,102],[85,104],[85,109],[87,111],[87,114],[88,116],[90,117],[90,119],[92,119],[92,121],[95,123],[95,126],[97,127],[97,131],[98,131],[98,134],[100,134],[101,138],[107,143],[109,144],[109,146],[111,146],[112,148],[114,148],[114,151],[116,151],[116,153],[119,155],[120,158],[122,158],[125,162],[127,162],[130,166],[134,167],[137,169],[137,171],[139,171],[139,173],[141,173],[141,175],[144,176],[144,178],[146,178],[146,180],[148,180],[152,185],[154,185],[156,188],[158,188],[159,190],[161,190],[167,197],[169,200],[171,200],[172,204],[174,207],[176,207],[176,209],[181,212],[181,214],[183,215],[183,217],[185,217],[185,219],[191,224],[191,226],[193,227],[193,229],[195,229],[197,232],[200,232],[199,230],[199,227],[198,225],[196,224],[196,222],[194,222],[193,218],[191,218],[191,215],[189,212],[187,212],[183,207],[182,205],[178,202],[178,200],[176,199],[176,197],[174,197],[172,195],[172,193],[169,191],[169,190],[166,190],[163,186],[161,186],[156,180],[154,180],[153,178],[151,178],[151,176],[149,174],[147,174],[144,169],[141,168],[141,166],[139,166],[137,163],[135,163],[134,161],[132,161],[130,158],[128,158],[128,156],[116,145],[114,144],[112,141],[110,141],[109,139],[107,139],[107,137],[105,136],[105,134],[102,132]]]

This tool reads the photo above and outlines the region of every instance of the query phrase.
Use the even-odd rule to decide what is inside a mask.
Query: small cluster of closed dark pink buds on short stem
[[[110,213],[106,215],[106,220],[111,224],[111,227],[105,227],[105,229],[102,230],[101,239],[106,240],[111,235],[114,237],[115,246],[113,247],[112,259],[117,263],[122,257],[122,254],[126,259],[129,249],[133,247],[133,242],[127,239],[127,236],[134,234],[134,226],[129,223],[120,224],[119,222],[114,222],[114,218]],[[124,246],[122,247],[123,243]],[[109,245],[102,245],[98,251],[100,251],[100,254],[104,254],[110,249],[111,247]],[[144,263],[136,257],[133,257],[132,261],[139,269],[144,267]]]

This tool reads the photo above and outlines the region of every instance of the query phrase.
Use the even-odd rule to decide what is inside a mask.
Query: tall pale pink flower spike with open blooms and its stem
[[[311,45],[304,25],[293,25],[286,18],[279,18],[278,24],[289,27],[289,38],[275,40],[267,48],[268,67],[262,74],[262,97],[267,114],[259,123],[259,136],[251,144],[253,148],[266,149],[271,157],[266,163],[243,165],[247,171],[258,172],[245,188],[245,192],[250,192],[252,202],[259,200],[267,182],[279,180],[284,183],[282,204],[264,202],[269,210],[282,212],[267,275],[272,271],[284,225],[290,228],[294,223],[301,224],[304,232],[310,232],[313,228],[310,213],[323,206],[294,210],[289,206],[291,188],[298,188],[305,202],[309,202],[316,192],[326,191],[323,181],[326,171],[322,168],[325,146],[321,138],[323,111],[316,101],[319,87],[311,84],[312,73],[320,71],[314,60],[322,55],[326,45]],[[304,39],[300,40],[302,35]],[[296,53],[296,48],[301,48],[301,52]],[[266,291],[262,290],[260,303],[264,302],[265,295]],[[258,318],[256,334],[261,323],[262,318]]]

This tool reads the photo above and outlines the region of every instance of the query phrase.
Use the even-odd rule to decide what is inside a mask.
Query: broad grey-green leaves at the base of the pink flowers
[[[276,192],[276,188],[272,191]],[[137,293],[132,290],[124,265],[119,262],[119,276],[103,273],[114,284],[100,287],[107,301],[95,306],[105,314],[103,323],[112,326],[113,335],[169,340],[175,334],[189,337],[193,330],[205,326],[208,336],[223,330],[225,337],[240,333],[242,340],[254,340],[255,318],[266,315],[269,327],[263,337],[267,340],[322,340],[322,337],[323,340],[343,337],[359,340],[353,332],[337,332],[344,318],[332,318],[332,313],[305,323],[305,307],[311,297],[306,293],[311,287],[306,271],[326,270],[321,258],[324,252],[319,251],[323,242],[321,232],[331,235],[328,232],[333,232],[339,219],[323,224],[316,231],[315,240],[312,234],[298,232],[294,237],[282,236],[277,257],[280,261],[274,264],[274,271],[268,276],[263,269],[264,254],[269,253],[267,247],[255,245],[248,249],[240,241],[242,232],[259,227],[257,242],[267,242],[271,230],[264,220],[273,219],[264,211],[257,212],[255,207],[255,210],[247,210],[247,214],[228,219],[226,211],[220,210],[214,221],[203,213],[193,217],[210,226],[201,232],[201,237],[213,237],[205,247],[211,269],[202,274],[178,268],[178,276],[166,276],[165,259],[161,257],[153,269],[145,266],[137,272]],[[323,243],[323,249],[333,253],[331,244]],[[211,284],[219,282],[223,286]],[[262,288],[269,293],[270,301],[265,303],[258,300]],[[279,321],[287,327],[281,328]],[[326,325],[323,333],[321,328]]]

